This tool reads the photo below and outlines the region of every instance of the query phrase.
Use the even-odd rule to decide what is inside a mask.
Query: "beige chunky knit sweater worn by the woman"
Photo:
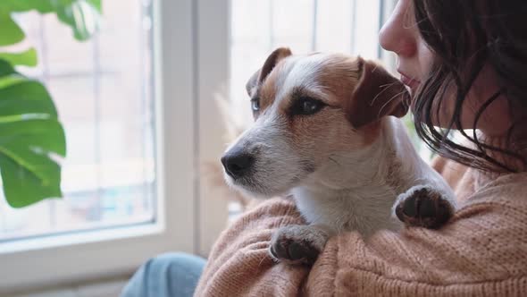
[[[273,263],[271,233],[294,204],[249,211],[213,247],[197,296],[527,296],[527,173],[489,175],[439,159],[462,208],[438,231],[332,238],[311,269]]]

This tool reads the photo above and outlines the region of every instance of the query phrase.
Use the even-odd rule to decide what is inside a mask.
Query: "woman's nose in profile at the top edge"
[[[379,32],[381,47],[399,56],[409,57],[416,51],[417,26],[412,21],[409,2],[400,0]],[[417,35],[415,35],[417,34]]]

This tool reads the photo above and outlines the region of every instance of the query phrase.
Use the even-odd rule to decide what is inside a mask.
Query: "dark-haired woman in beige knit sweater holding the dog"
[[[524,0],[400,0],[381,30],[460,200],[448,225],[343,233],[314,267],[276,265],[272,231],[301,220],[269,200],[222,233],[197,295],[527,295],[525,15]],[[447,137],[455,130],[461,140]]]

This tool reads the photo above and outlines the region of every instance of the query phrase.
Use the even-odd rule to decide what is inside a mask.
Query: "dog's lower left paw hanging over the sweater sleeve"
[[[272,234],[269,253],[289,264],[312,265],[328,241],[328,233],[309,225],[289,225]]]

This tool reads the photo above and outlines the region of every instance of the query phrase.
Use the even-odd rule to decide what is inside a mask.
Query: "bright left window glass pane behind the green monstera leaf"
[[[63,199],[9,208],[0,199],[0,242],[155,220],[152,19],[148,2],[106,1],[104,28],[76,41],[54,15],[24,13],[26,43],[67,140]]]

